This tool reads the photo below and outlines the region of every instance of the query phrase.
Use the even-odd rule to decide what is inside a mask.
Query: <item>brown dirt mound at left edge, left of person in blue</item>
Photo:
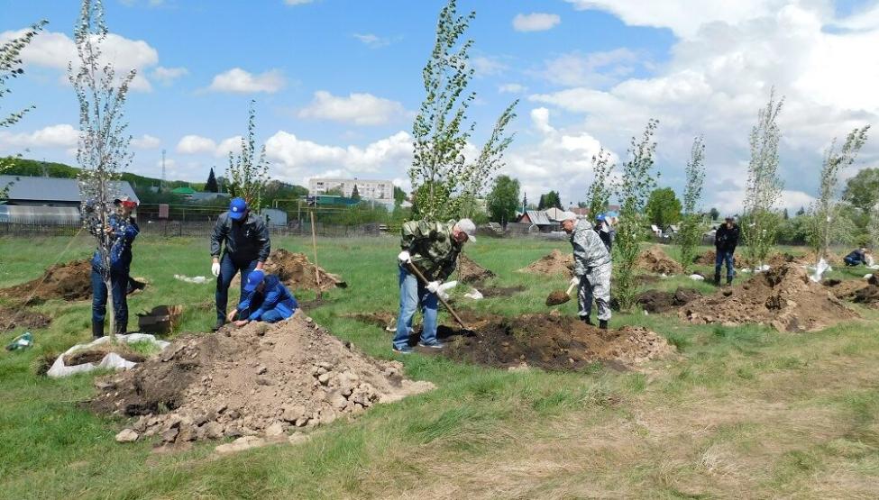
[[[28,300],[29,304],[50,299],[86,300],[92,296],[92,265],[74,260],[46,269],[41,277],[0,290],[0,296]]]

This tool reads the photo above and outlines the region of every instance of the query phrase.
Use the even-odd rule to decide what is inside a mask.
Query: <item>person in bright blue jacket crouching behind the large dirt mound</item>
[[[265,274],[254,269],[247,275],[242,301],[226,317],[234,321],[235,326],[244,326],[250,322],[278,323],[296,314],[299,306],[296,297],[287,286],[280,282],[279,277]]]

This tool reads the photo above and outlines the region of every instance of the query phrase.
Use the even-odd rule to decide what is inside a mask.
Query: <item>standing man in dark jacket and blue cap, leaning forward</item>
[[[221,248],[225,245],[221,254]],[[251,214],[243,198],[233,198],[229,211],[220,214],[211,233],[211,272],[216,277],[216,325],[218,330],[226,322],[226,305],[229,302],[229,285],[237,273],[241,273],[241,297],[247,275],[254,269],[262,269],[269,259],[271,241],[269,230],[262,219]]]

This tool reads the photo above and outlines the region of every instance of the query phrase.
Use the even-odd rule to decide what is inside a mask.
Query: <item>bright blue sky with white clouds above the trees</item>
[[[137,77],[125,107],[129,170],[204,182],[222,175],[256,101],[270,176],[391,179],[410,187],[411,129],[442,0],[105,0],[105,53]],[[879,1],[459,0],[476,12],[470,118],[479,147],[520,99],[499,174],[529,200],[582,201],[600,148],[624,161],[659,120],[660,186],[679,196],[704,136],[703,208],[741,210],[748,134],[770,89],[783,95],[782,206],[808,206],[835,137],[879,120]],[[67,80],[78,2],[0,0],[0,41],[50,23],[23,52],[0,112],[0,154],[76,163],[78,105]],[[856,164],[876,166],[879,141]],[[618,168],[619,169],[619,168]]]

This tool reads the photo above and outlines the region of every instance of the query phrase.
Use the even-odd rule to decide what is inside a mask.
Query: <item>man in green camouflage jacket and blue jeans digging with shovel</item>
[[[434,223],[428,221],[409,221],[400,230],[399,264],[400,308],[397,318],[397,334],[394,336],[394,352],[407,354],[409,330],[418,305],[424,315],[424,328],[419,346],[442,349],[443,343],[436,340],[436,291],[440,283],[449,277],[457,265],[465,241],[476,241],[473,234],[476,226],[470,219],[455,223]],[[418,277],[409,266],[415,266],[428,283],[419,283]]]

